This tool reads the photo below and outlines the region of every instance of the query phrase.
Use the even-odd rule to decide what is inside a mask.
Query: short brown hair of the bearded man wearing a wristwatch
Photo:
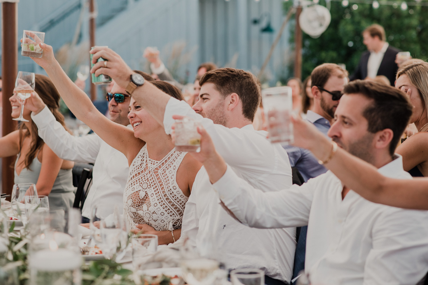
[[[199,79],[199,86],[204,83],[213,83],[223,98],[237,93],[242,101],[242,114],[253,122],[262,96],[260,82],[253,73],[235,68],[220,68],[205,73]]]

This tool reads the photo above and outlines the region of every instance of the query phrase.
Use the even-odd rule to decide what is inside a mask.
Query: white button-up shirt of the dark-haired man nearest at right
[[[410,179],[402,158],[378,169]],[[375,204],[327,172],[302,186],[263,193],[230,167],[213,184],[244,224],[259,228],[308,225],[305,270],[312,284],[416,284],[428,271],[428,211]]]

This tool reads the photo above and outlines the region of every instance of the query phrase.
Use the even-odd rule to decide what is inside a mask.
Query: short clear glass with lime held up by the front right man
[[[196,151],[201,150],[201,135],[197,127],[202,126],[199,121],[191,119],[175,120],[175,150]]]

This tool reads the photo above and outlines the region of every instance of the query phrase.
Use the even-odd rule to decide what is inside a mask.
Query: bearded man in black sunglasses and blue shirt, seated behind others
[[[311,73],[313,111],[308,110],[306,119],[327,136],[330,124],[333,124],[334,112],[342,97],[342,90],[348,83],[348,72],[337,64],[321,64]],[[304,182],[317,177],[327,169],[318,163],[310,151],[293,145],[284,147],[288,153],[291,167],[297,168]],[[297,246],[294,254],[293,278],[304,269],[306,253],[307,226],[297,228]]]

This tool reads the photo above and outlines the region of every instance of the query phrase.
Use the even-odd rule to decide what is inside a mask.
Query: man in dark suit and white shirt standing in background
[[[386,42],[385,30],[382,26],[373,24],[363,31],[363,44],[367,51],[361,55],[360,63],[349,79],[374,79],[378,75],[386,76],[393,86],[398,65],[395,57],[399,49],[389,46]]]

